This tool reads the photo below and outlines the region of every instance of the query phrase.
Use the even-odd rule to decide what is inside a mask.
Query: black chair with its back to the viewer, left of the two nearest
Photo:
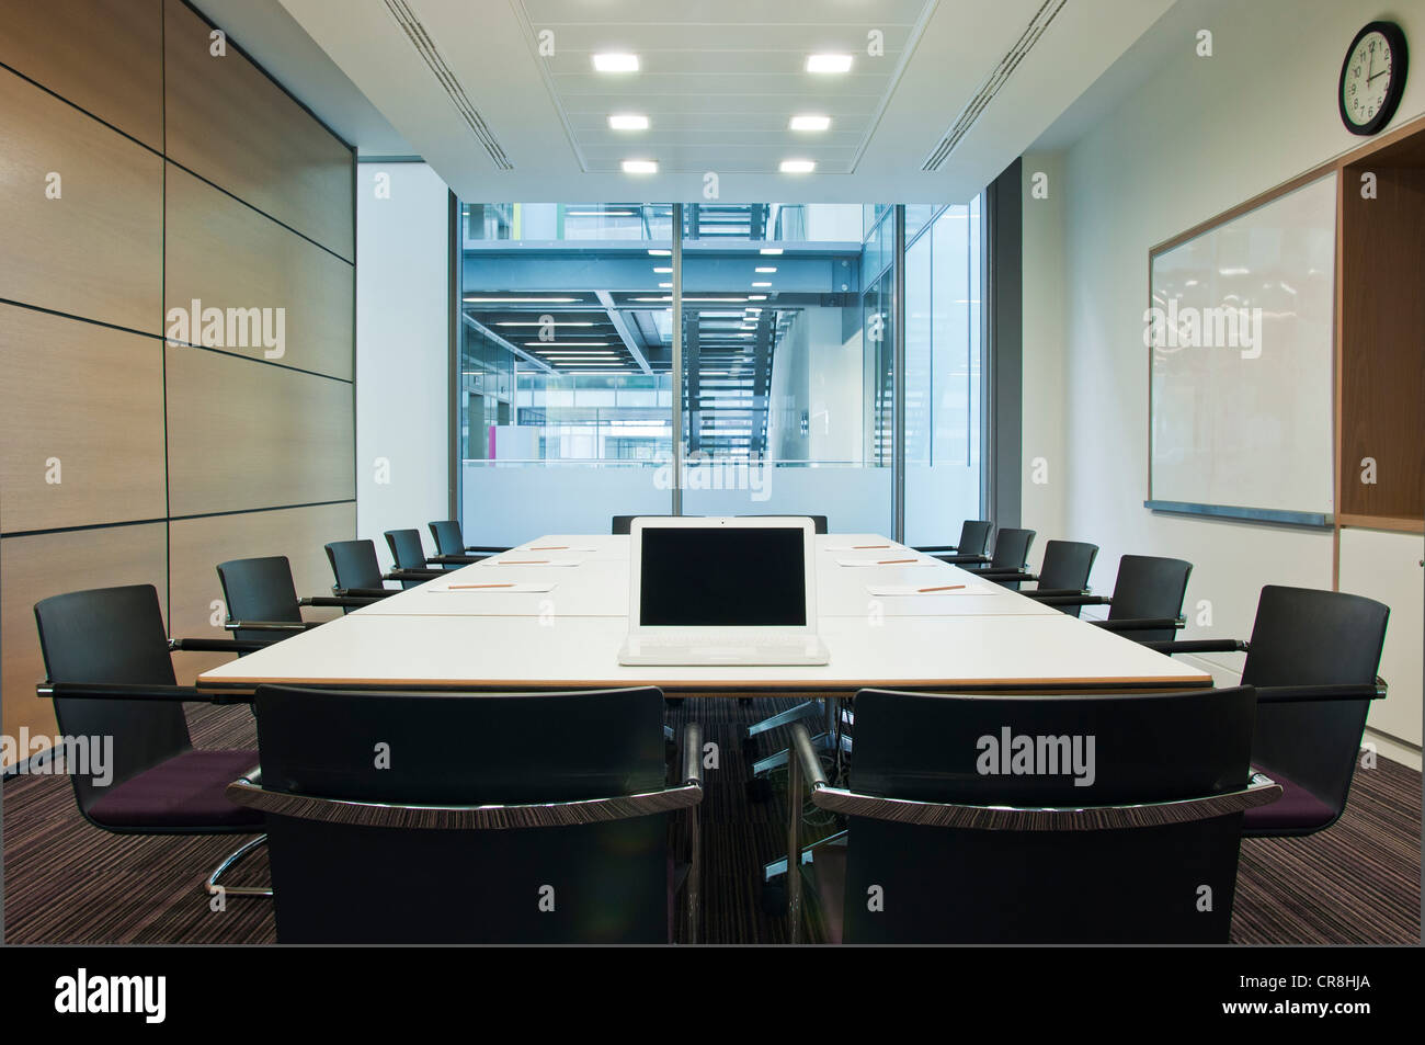
[[[668,814],[687,810],[698,920],[701,733],[665,783],[663,694],[262,686],[279,942],[670,942]]]

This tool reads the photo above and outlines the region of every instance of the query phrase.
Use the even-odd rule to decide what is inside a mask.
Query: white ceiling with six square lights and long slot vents
[[[222,9],[247,6],[200,3],[219,24]],[[281,4],[465,200],[693,201],[712,188],[741,202],[945,202],[1033,145],[1173,0]],[[232,34],[265,61],[261,40]],[[636,53],[638,71],[594,71],[591,56],[608,51]],[[819,53],[849,54],[852,67],[808,73]],[[325,117],[332,86],[272,71]],[[610,130],[616,113],[650,127]],[[831,127],[791,131],[797,114]],[[953,148],[923,170],[956,125]],[[355,144],[386,151],[359,131]],[[658,173],[626,174],[624,160],[654,160]],[[784,160],[817,170],[784,174]]]

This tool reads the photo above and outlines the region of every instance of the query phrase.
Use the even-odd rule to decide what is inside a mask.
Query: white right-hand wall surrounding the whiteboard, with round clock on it
[[[1213,57],[1197,57],[1186,37],[1178,57],[1157,66],[1117,111],[1067,150],[1050,195],[1060,194],[1066,215],[1057,265],[1029,257],[1053,255],[1052,208],[1025,202],[1026,468],[1036,446],[1053,441],[1052,422],[1029,421],[1030,408],[1042,409],[1052,398],[1053,355],[1063,366],[1057,458],[1064,462],[1057,500],[1053,485],[1036,490],[1026,482],[1025,518],[1045,533],[1045,519],[1062,510],[1060,532],[1099,543],[1097,589],[1113,585],[1119,556],[1127,552],[1193,562],[1186,606],[1193,636],[1245,636],[1265,583],[1331,587],[1332,539],[1157,516],[1143,508],[1147,252],[1361,144],[1341,125],[1335,87],[1347,46],[1372,14],[1340,0],[1224,6],[1206,26],[1213,30]],[[1425,0],[1396,0],[1389,17],[1416,48],[1425,44]],[[1392,127],[1422,113],[1425,76],[1414,68]],[[1026,178],[1045,164],[1052,168],[1053,158],[1026,158]],[[1060,294],[1064,304],[1056,314]],[[1411,642],[1418,670],[1419,633]],[[1396,689],[1391,699],[1409,700],[1409,689]],[[1418,719],[1418,680],[1414,689]]]

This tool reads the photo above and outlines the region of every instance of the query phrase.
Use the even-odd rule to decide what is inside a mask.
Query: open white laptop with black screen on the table
[[[620,664],[825,664],[805,516],[634,519]]]

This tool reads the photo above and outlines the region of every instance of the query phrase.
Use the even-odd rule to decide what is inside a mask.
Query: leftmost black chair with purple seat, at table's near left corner
[[[70,592],[34,604],[46,680],[60,733],[103,744],[87,766],[67,748],[66,768],[80,814],[114,834],[258,835],[205,881],[209,894],[272,895],[221,885],[221,877],[262,844],[262,814],[234,805],[224,788],[256,764],[252,750],[194,750],[182,701],[234,703],[178,686],[171,650],[245,653],[258,643],[164,634],[152,585]],[[95,756],[107,763],[97,773]],[[80,771],[76,771],[80,770]],[[105,778],[107,777],[107,778]]]

